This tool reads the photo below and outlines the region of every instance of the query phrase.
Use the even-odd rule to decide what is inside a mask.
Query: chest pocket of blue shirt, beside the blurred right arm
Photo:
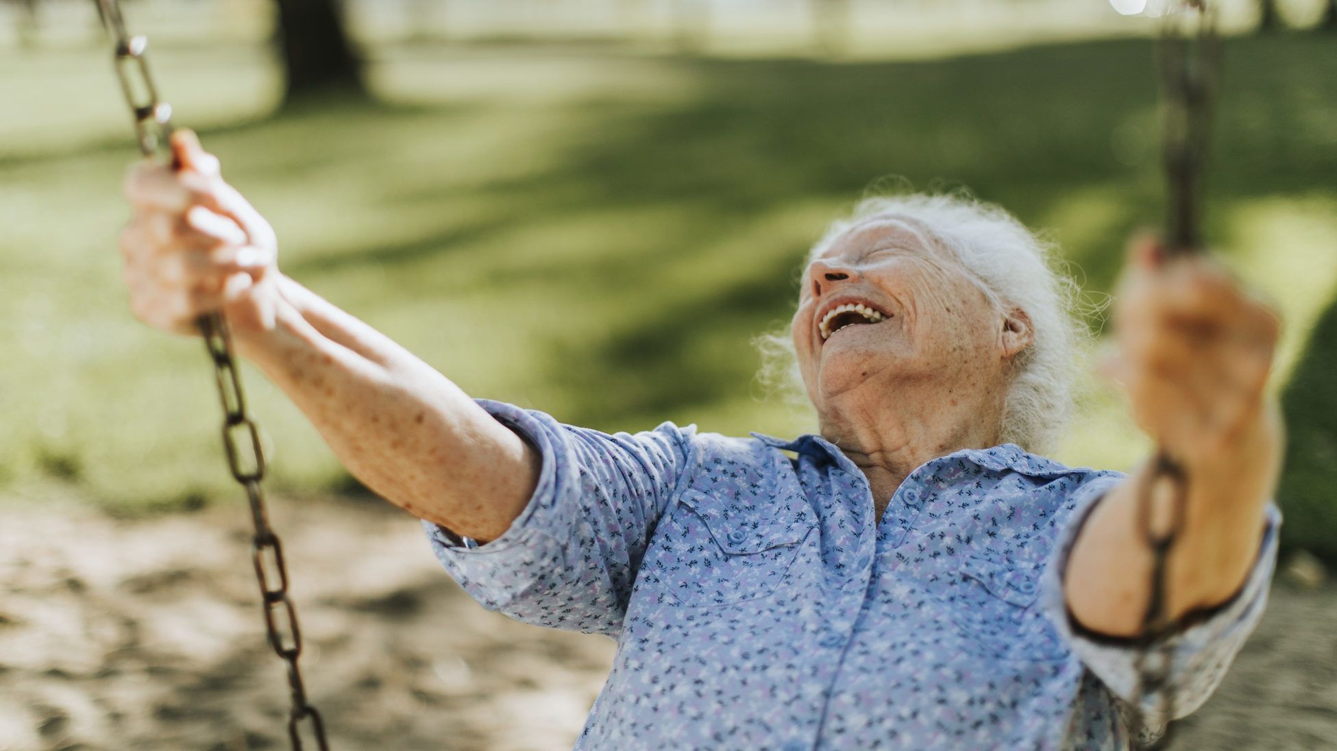
[[[1024,552],[961,561],[948,605],[968,651],[997,660],[1067,659],[1039,605],[1043,564],[1043,557]]]

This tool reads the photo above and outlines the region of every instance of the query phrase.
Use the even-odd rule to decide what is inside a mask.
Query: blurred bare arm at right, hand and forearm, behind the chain
[[[1166,615],[1178,620],[1231,599],[1258,559],[1275,489],[1282,428],[1263,394],[1275,314],[1206,259],[1165,261],[1154,242],[1132,249],[1115,311],[1118,357],[1107,373],[1128,393],[1138,424],[1187,477],[1185,522],[1167,561]],[[1142,633],[1151,549],[1138,505],[1151,462],[1087,517],[1064,572],[1074,619],[1116,637]],[[1166,529],[1171,493],[1152,493]]]

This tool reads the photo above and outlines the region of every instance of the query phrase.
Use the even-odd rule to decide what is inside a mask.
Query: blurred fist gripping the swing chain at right
[[[1219,262],[1170,258],[1154,238],[1132,242],[1116,301],[1118,347],[1102,371],[1166,454],[1210,476],[1259,441],[1280,444],[1265,394],[1280,333],[1270,306]]]

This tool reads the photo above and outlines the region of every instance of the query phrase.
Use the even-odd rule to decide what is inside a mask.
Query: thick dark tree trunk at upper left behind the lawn
[[[277,0],[286,102],[317,94],[365,95],[361,61],[338,0]]]

